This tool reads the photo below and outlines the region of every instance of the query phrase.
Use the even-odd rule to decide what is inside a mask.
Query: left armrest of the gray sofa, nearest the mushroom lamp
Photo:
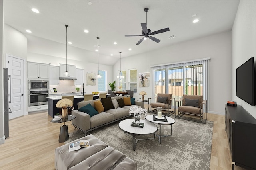
[[[72,120],[72,125],[75,125],[82,131],[90,129],[90,115],[78,110],[73,110],[72,115],[76,116],[76,119]]]

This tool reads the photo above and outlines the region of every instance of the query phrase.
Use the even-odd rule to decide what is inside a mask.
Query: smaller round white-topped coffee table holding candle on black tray
[[[154,116],[157,116],[157,115],[147,115],[145,117],[145,119],[147,119],[148,121],[153,122],[153,123],[158,123],[158,125],[159,125],[159,135],[156,135],[156,136],[159,137],[159,143],[161,143],[161,137],[172,136],[172,124],[175,123],[175,120],[168,117],[168,116],[164,116],[164,117],[166,117],[167,122],[161,121],[161,119],[159,121],[156,121],[156,120],[154,120]],[[171,125],[171,135],[161,135],[161,125]]]

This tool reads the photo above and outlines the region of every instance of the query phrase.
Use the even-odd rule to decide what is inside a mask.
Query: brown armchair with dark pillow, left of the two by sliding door
[[[156,96],[156,102],[152,103],[152,98],[148,98],[148,112],[154,113],[157,110],[157,107],[162,107],[163,113],[170,116],[174,113],[172,108],[172,103],[174,101],[175,98],[172,98],[172,94],[158,93]]]

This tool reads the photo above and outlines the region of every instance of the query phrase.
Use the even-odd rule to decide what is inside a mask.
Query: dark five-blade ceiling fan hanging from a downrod
[[[140,41],[138,41],[138,43],[136,45],[139,45],[143,41],[144,38],[149,38],[149,39],[159,43],[161,41],[160,39],[157,39],[157,38],[152,37],[150,35],[164,33],[166,31],[170,31],[170,29],[169,28],[164,28],[164,29],[160,29],[158,31],[151,32],[151,30],[147,28],[147,12],[148,12],[148,8],[145,8],[144,11],[146,12],[146,23],[141,23],[141,27],[142,27],[141,35],[124,35],[124,36],[125,37],[144,36],[142,39],[140,39]]]

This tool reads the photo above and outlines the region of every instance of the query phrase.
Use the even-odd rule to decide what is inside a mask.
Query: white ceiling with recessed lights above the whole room
[[[99,53],[110,56],[113,62],[100,60],[100,64],[113,65],[122,57],[145,53],[232,29],[238,0],[4,0],[4,23],[24,34],[30,29],[37,37],[66,44],[66,27],[71,46],[95,51],[99,39]],[[124,37],[141,34],[140,23],[146,23],[152,32],[170,28],[153,35],[160,43],[142,37]],[[32,12],[37,8],[40,13]],[[196,16],[192,17],[192,15]],[[198,23],[192,21],[198,18]],[[84,33],[88,29],[89,33]],[[168,39],[175,35],[176,38]],[[114,45],[116,41],[118,44]],[[148,41],[148,43],[147,43]],[[129,51],[128,49],[132,50]],[[109,57],[108,57],[109,60]]]

